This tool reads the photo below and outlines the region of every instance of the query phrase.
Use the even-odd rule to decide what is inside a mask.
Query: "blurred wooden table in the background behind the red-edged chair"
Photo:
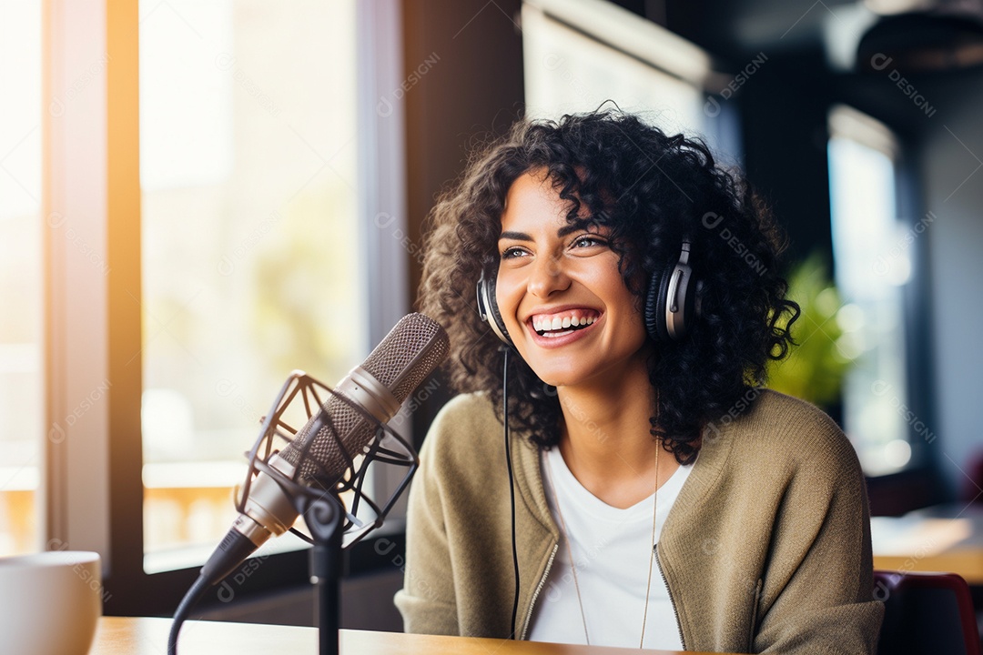
[[[940,505],[870,521],[874,568],[958,573],[983,584],[983,507]]]

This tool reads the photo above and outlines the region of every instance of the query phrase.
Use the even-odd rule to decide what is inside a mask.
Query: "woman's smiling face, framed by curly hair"
[[[498,240],[498,309],[544,382],[613,382],[644,367],[640,300],[624,284],[606,228],[574,228],[567,210],[542,172],[512,184]]]

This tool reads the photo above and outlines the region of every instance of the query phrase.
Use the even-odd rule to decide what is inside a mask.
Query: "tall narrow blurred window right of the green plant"
[[[852,360],[843,380],[843,427],[864,470],[879,475],[912,458],[903,287],[918,235],[934,218],[929,214],[914,226],[898,219],[898,146],[884,125],[838,106],[830,114],[830,135],[835,277],[849,308],[838,320],[848,323],[843,355]]]

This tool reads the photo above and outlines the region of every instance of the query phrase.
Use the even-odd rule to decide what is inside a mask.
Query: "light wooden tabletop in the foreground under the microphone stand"
[[[88,655],[166,655],[169,619],[103,617]],[[341,630],[341,655],[670,655],[679,651],[567,646],[458,636]],[[189,621],[181,628],[178,655],[317,655],[317,628]],[[689,654],[687,654],[689,655]]]

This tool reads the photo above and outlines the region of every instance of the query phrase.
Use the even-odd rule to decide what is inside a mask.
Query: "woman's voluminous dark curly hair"
[[[517,123],[473,156],[434,206],[419,300],[450,335],[452,385],[487,392],[496,408],[503,352],[478,314],[475,285],[483,269],[496,271],[506,193],[523,174],[541,171],[569,203],[568,221],[581,224],[586,214],[607,226],[625,284],[640,297],[646,290],[637,281],[673,264],[684,239],[692,244],[699,319],[683,340],[657,343],[648,370],[659,392],[651,432],[680,464],[693,462],[704,426],[764,384],[768,360],[793,343],[788,329],[799,307],[785,299],[778,271],[781,231],[698,138],[667,136],[617,110]],[[549,449],[562,420],[555,389],[521,357],[510,361],[510,422]]]

